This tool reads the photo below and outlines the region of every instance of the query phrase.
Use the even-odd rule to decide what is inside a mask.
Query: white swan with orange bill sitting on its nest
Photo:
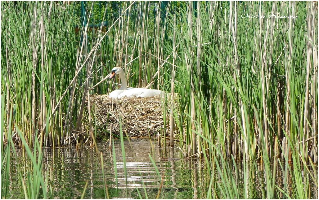
[[[145,89],[145,88],[127,88],[126,80],[124,76],[123,69],[120,67],[115,67],[111,71],[110,79],[114,78],[115,75],[119,75],[121,79],[121,88],[116,89],[111,92],[108,96],[110,98],[123,98],[126,97],[149,97],[149,96],[161,96],[163,92],[158,89]]]

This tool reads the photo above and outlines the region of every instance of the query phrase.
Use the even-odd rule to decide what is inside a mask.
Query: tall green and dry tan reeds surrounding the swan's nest
[[[318,182],[309,170],[317,171],[318,163],[317,2],[101,7],[99,22],[108,23],[89,31],[85,22],[96,20],[94,3],[87,4],[84,20],[77,2],[1,2],[3,143],[9,148],[81,144],[84,140],[74,139],[87,119],[85,133],[93,145],[99,113],[85,99],[112,91],[107,81],[91,87],[120,66],[130,87],[177,93],[177,103],[164,107],[169,122],[174,120],[171,139],[180,141],[175,145],[185,157],[204,160],[207,198],[217,198],[216,190],[224,198],[249,198],[256,162],[265,171],[265,197],[309,197],[307,179]],[[249,13],[265,17],[245,17]],[[271,13],[297,18],[270,18]],[[229,170],[238,161],[244,165],[244,196]],[[277,167],[285,172],[284,182],[293,183],[292,192],[275,183]]]

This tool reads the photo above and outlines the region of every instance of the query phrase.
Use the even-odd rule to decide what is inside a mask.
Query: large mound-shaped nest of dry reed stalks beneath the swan
[[[88,108],[88,98],[85,104]],[[93,126],[98,126],[102,132],[119,135],[120,121],[123,134],[129,137],[169,131],[170,101],[165,103],[165,99],[159,96],[112,99],[108,95],[90,95],[90,107]]]

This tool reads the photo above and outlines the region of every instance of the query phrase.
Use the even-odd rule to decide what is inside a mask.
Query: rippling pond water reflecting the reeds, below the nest
[[[183,153],[178,148],[159,148],[150,139],[131,139],[125,141],[126,176],[122,158],[121,144],[115,140],[115,158],[113,152],[103,143],[98,144],[102,152],[104,162],[105,180],[110,198],[206,198],[210,177],[208,169],[204,168],[204,160],[182,159]],[[18,169],[23,173],[24,182],[28,172],[31,172],[31,162],[26,159],[25,152],[17,152],[19,157],[14,160],[11,156],[10,185],[11,198],[24,198],[19,181]],[[160,177],[149,158],[154,159],[159,170]],[[114,164],[114,159],[116,160]],[[231,188],[241,198],[266,198],[266,174],[262,165],[256,168],[238,163],[237,170],[228,163],[228,169],[233,175],[236,186]],[[227,170],[228,170],[227,169]],[[256,170],[257,169],[257,170]],[[224,169],[222,169],[224,170]],[[115,172],[116,171],[116,172]],[[244,173],[244,171],[246,173]],[[117,180],[116,176],[117,174]],[[245,177],[244,174],[248,175]],[[88,181],[84,198],[104,198],[103,176],[101,170],[100,154],[96,154],[95,148],[87,146],[76,149],[75,147],[45,148],[43,159],[43,176],[52,187],[53,198],[80,198]],[[306,175],[308,176],[308,174]],[[287,177],[287,176],[286,176]],[[303,177],[305,180],[307,177]],[[222,178],[216,168],[213,174],[214,185],[222,183]],[[246,180],[246,181],[245,181]],[[311,180],[309,177],[307,180]],[[285,174],[277,165],[275,179],[276,185],[281,189],[287,187],[292,190],[293,182],[290,176],[285,180]],[[310,182],[309,191],[311,198],[318,196],[317,186]],[[238,189],[237,189],[238,188]],[[223,194],[212,189],[214,198],[223,198]],[[275,198],[286,198],[282,193],[275,193]],[[10,197],[10,196],[9,196]]]

